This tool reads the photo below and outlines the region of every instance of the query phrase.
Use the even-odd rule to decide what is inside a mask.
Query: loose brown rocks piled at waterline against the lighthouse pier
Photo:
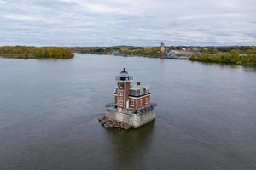
[[[114,127],[114,128],[119,128],[119,129],[125,129],[125,130],[132,128],[131,125],[129,125],[125,122],[109,120],[106,116],[103,116],[102,118],[99,118],[98,120],[102,124],[102,127],[105,127],[105,128],[113,128]]]

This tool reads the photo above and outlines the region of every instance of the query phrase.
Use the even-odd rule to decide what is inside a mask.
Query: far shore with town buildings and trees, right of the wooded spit
[[[77,47],[73,52],[79,54],[108,54],[124,57],[148,57],[160,59],[185,59],[204,63],[256,66],[255,46],[220,47]]]

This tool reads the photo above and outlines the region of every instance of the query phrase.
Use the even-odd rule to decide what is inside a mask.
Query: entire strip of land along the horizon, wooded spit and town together
[[[174,49],[174,50],[173,50]],[[196,50],[191,53],[189,50]],[[164,51],[160,47],[32,47],[4,46],[0,47],[0,56],[10,59],[72,59],[77,54],[98,54],[123,57],[147,57],[159,59],[183,59],[204,63],[222,63],[232,65],[256,66],[255,46],[234,47],[170,47]],[[172,55],[169,55],[172,53]],[[183,55],[188,54],[188,55]]]

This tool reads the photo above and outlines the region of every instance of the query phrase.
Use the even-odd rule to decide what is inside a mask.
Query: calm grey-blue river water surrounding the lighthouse
[[[123,68],[147,83],[157,118],[97,122]],[[0,58],[0,169],[256,169],[256,69],[76,54]]]

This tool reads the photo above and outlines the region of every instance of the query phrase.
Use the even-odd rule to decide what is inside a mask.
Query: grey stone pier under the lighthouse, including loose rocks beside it
[[[133,113],[131,111],[117,111],[115,108],[108,108],[105,115],[99,119],[104,127],[137,128],[155,119],[155,111],[144,113]],[[122,127],[121,127],[122,126]]]

